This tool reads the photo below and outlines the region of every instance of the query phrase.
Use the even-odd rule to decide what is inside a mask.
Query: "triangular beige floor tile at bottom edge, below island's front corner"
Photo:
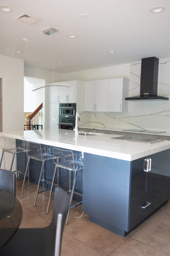
[[[143,244],[133,238],[129,238],[123,244],[121,244],[114,252],[109,256],[166,256],[167,254],[160,252],[146,244]]]

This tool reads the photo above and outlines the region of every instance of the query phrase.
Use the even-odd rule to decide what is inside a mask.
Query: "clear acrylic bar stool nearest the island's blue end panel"
[[[61,148],[53,148],[53,152],[54,152],[53,162],[55,164],[55,171],[54,171],[54,175],[53,175],[53,180],[52,180],[52,185],[51,185],[50,196],[48,199],[48,206],[47,206],[46,213],[48,214],[50,199],[52,199],[51,195],[52,195],[52,190],[53,190],[53,186],[54,186],[56,168],[57,168],[57,186],[58,186],[58,168],[66,169],[69,171],[69,190],[67,192],[69,193],[69,196],[70,196],[69,211],[68,211],[67,218],[66,218],[66,224],[67,224],[70,209],[72,209],[73,207],[75,207],[83,202],[83,201],[81,201],[81,202],[78,202],[78,204],[74,204],[73,206],[71,206],[71,202],[73,199],[73,193],[75,193],[79,196],[83,196],[82,194],[74,191],[75,183],[76,183],[76,175],[79,170],[83,169],[83,163],[81,161],[74,159],[73,152],[71,150],[65,150],[65,149],[61,149]],[[72,188],[71,188],[71,172],[74,172]]]

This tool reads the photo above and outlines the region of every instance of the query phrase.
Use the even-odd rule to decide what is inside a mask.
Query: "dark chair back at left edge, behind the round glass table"
[[[16,196],[16,174],[14,172],[0,169],[0,190]]]

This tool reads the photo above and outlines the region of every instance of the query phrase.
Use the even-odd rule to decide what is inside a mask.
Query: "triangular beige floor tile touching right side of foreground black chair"
[[[99,252],[80,242],[67,233],[63,233],[61,256],[101,256]]]

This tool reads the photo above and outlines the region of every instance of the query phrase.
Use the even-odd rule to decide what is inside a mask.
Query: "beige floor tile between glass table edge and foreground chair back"
[[[49,225],[47,220],[44,220],[37,214],[27,210],[24,212],[19,228],[44,228]]]

